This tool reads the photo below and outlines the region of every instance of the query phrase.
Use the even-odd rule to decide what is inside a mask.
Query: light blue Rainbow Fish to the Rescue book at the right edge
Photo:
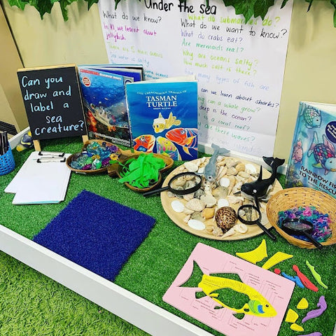
[[[288,159],[286,187],[336,196],[336,105],[300,102]]]

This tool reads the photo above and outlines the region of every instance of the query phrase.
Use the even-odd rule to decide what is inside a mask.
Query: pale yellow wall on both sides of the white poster
[[[22,11],[10,7],[7,0],[0,2],[26,67],[108,62],[96,4],[87,11],[86,2],[72,3],[68,6],[69,20],[64,22],[58,3],[52,8],[51,15],[45,14],[41,20],[31,6]],[[294,0],[290,24],[274,148],[274,155],[286,160],[300,100],[336,104],[333,7],[329,1],[315,0],[307,13],[307,6],[304,0]]]

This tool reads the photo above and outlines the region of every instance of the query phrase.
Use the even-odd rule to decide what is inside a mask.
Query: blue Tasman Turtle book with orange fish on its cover
[[[197,81],[194,76],[127,83],[134,151],[197,159]]]

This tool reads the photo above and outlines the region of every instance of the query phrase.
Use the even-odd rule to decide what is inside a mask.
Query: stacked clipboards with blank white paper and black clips
[[[15,193],[13,204],[62,202],[68,188],[71,170],[66,158],[71,154],[32,152],[5,193]]]

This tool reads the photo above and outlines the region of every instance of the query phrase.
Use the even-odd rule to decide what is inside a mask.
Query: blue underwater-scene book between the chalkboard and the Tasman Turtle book
[[[94,66],[78,66],[89,139],[132,146],[125,85],[134,78]]]

